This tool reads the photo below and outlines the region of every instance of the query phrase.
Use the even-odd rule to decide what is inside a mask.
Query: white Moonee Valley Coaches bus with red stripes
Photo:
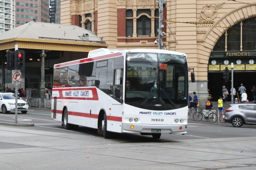
[[[183,53],[157,49],[90,51],[88,58],[54,65],[51,117],[111,132],[185,134],[188,66]]]

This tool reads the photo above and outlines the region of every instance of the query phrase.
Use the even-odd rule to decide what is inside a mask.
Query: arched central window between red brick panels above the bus
[[[137,19],[137,35],[150,36],[151,34],[151,19],[143,15]]]

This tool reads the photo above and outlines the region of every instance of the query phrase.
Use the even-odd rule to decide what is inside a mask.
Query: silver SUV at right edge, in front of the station
[[[256,104],[231,104],[225,109],[224,120],[234,127],[256,125]]]

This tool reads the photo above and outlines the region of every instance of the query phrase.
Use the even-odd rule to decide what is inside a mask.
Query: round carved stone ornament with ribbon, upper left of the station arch
[[[216,18],[216,15],[217,15],[217,10],[221,9],[224,3],[218,3],[218,4],[215,4],[215,6],[210,4],[204,6],[203,10],[200,13],[199,22],[213,23],[213,19]]]

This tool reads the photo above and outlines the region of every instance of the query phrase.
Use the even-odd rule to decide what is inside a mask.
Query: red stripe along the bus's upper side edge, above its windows
[[[89,61],[108,59],[108,58],[111,58],[111,57],[118,57],[118,56],[122,56],[122,53],[114,53],[114,54],[108,54],[108,55],[99,56],[99,57],[91,57],[91,58],[75,60],[75,61],[71,61],[71,62],[67,62],[67,63],[56,64],[56,65],[54,65],[54,69],[59,68],[59,67],[73,65],[73,64],[86,63],[86,62],[89,62]]]

